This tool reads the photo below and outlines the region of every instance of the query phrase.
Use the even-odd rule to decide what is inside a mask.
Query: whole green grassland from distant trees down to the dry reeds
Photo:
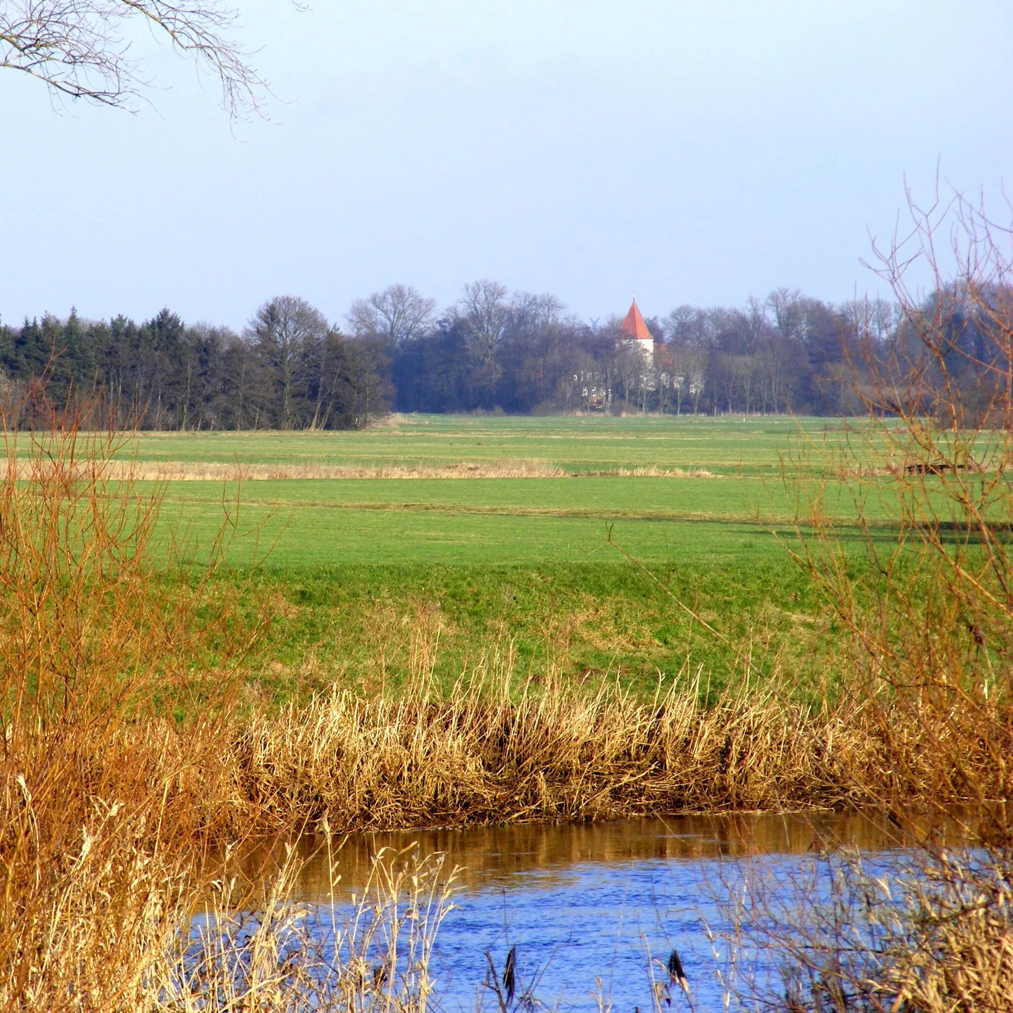
[[[238,462],[309,476],[163,486],[163,522],[185,532],[194,558],[220,528],[223,503],[239,503],[228,559],[243,574],[255,566],[278,605],[265,693],[334,679],[387,685],[417,669],[422,647],[444,682],[506,658],[536,677],[550,665],[638,685],[699,672],[719,688],[741,656],[628,556],[771,671],[809,664],[827,628],[789,557],[795,493],[781,478],[802,435],[834,444],[842,428],[824,419],[407,416],[364,433],[142,434],[123,453],[183,473]],[[313,477],[320,468],[521,461],[564,475]],[[713,477],[608,474],[633,469]],[[827,484],[827,504],[854,517],[840,482]],[[888,518],[882,504],[869,513]],[[857,529],[850,537],[857,557]]]

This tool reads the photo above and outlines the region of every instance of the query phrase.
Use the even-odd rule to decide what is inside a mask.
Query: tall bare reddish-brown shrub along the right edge
[[[739,990],[750,1008],[1010,1008],[1013,230],[961,193],[923,206],[909,191],[908,210],[907,231],[874,248],[897,325],[884,331],[861,307],[846,348],[868,415],[843,449],[803,441],[794,488],[798,557],[843,634],[842,695],[889,757],[892,792],[870,780],[865,801],[909,850],[874,871],[821,858],[780,894],[751,883],[728,941],[757,945],[783,981]],[[864,553],[827,510],[838,479]],[[897,806],[905,783],[960,827],[955,847]],[[954,812],[961,796],[972,804]]]

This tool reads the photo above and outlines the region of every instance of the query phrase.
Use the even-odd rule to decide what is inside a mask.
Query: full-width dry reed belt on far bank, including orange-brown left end
[[[478,684],[447,698],[335,690],[203,724],[146,718],[54,741],[18,766],[48,785],[55,851],[77,847],[104,799],[157,811],[148,819],[191,853],[324,823],[345,833],[1003,797],[1008,771],[990,770],[988,744],[976,755],[960,721],[952,736],[952,749],[930,744],[900,709],[883,728],[861,706],[812,710],[762,690],[704,707],[693,686],[644,702],[559,684],[511,699]],[[8,796],[6,811],[20,804]]]

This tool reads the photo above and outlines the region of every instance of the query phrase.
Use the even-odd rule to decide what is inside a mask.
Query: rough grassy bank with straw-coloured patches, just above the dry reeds
[[[650,574],[660,587],[624,560],[265,568],[224,578],[222,593],[242,589],[248,601],[271,603],[251,667],[264,702],[332,686],[366,696],[396,691],[411,681],[420,643],[444,690],[501,656],[516,680],[535,685],[553,677],[591,689],[618,682],[649,697],[659,678],[700,671],[701,693],[709,686],[718,694],[741,669],[739,642],[762,646],[756,664],[765,672],[779,664],[799,688],[814,678],[811,647],[826,639],[827,623],[790,559],[744,551]]]

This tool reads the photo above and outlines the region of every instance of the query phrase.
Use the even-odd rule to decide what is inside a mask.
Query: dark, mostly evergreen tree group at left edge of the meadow
[[[8,404],[45,378],[52,403],[98,393],[113,424],[152,430],[357,428],[392,396],[379,345],[292,296],[264,303],[241,334],[167,309],[140,324],[72,312],[0,326],[0,371]]]

